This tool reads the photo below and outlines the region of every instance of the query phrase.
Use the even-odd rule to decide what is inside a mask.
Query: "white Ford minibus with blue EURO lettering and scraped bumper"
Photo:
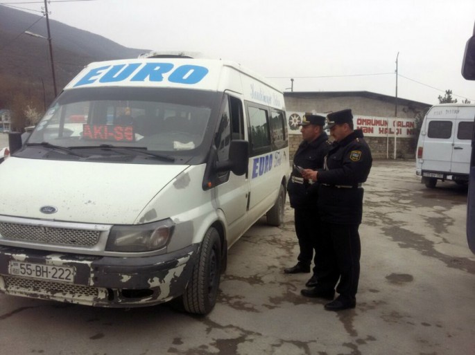
[[[0,291],[103,307],[216,302],[227,249],[288,180],[284,97],[234,62],[89,64],[0,165]]]

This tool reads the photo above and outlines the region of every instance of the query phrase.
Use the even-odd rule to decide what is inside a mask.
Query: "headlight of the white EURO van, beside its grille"
[[[168,244],[174,228],[175,224],[171,219],[150,224],[113,226],[105,250],[123,253],[156,251]]]

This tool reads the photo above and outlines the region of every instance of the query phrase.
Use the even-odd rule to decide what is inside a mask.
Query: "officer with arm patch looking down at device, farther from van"
[[[319,183],[319,233],[323,237],[318,239],[316,249],[321,264],[317,284],[301,293],[332,300],[325,309],[339,311],[356,306],[361,255],[358,228],[363,214],[361,183],[370,174],[372,156],[361,129],[354,130],[351,110],[329,113],[327,127],[334,143],[325,158],[325,170],[302,173],[305,179]],[[339,295],[333,300],[335,286]]]

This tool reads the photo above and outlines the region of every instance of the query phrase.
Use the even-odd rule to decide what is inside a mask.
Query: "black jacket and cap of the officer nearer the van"
[[[304,117],[304,121],[301,123],[301,125],[311,124],[323,126],[325,118],[311,115]],[[293,156],[293,169],[287,184],[288,197],[292,208],[307,208],[312,204],[316,204],[318,184],[304,180],[302,174],[297,170],[297,166],[304,169],[321,169],[330,147],[331,143],[325,132],[322,132],[318,138],[310,143],[306,142],[306,140],[300,143],[297,152]]]

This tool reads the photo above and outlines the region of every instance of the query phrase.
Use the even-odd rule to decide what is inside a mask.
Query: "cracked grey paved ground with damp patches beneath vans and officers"
[[[376,161],[365,185],[356,309],[300,296],[293,210],[259,221],[230,250],[206,317],[171,307],[94,309],[0,295],[1,354],[475,353],[475,255],[465,238],[467,189],[428,190],[413,161]],[[1,198],[1,197],[0,197]]]

